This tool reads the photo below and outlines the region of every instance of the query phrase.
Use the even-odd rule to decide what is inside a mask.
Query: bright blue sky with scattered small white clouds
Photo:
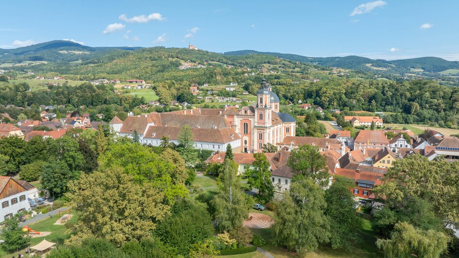
[[[0,48],[55,39],[92,47],[191,42],[215,52],[459,61],[457,0],[21,0],[1,9]]]

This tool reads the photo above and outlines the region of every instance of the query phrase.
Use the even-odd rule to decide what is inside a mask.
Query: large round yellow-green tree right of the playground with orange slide
[[[81,243],[88,237],[106,239],[118,246],[140,240],[148,237],[169,213],[163,193],[147,181],[135,182],[121,168],[82,174],[69,188],[66,196],[79,218],[72,226],[76,234],[66,241],[68,244]]]

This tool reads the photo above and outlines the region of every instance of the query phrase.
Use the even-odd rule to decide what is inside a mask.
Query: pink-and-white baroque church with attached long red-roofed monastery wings
[[[115,116],[109,125],[119,136],[132,138],[137,133],[142,144],[153,146],[159,146],[164,135],[177,143],[180,128],[188,125],[197,149],[223,151],[230,144],[235,152],[253,153],[262,152],[264,144],[295,136],[295,118],[280,113],[279,107],[279,97],[262,79],[257,103],[240,110],[191,109],[129,116],[125,121]]]

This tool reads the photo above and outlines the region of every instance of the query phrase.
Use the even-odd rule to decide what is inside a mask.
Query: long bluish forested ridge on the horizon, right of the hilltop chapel
[[[255,50],[239,50],[225,52],[225,55],[264,54],[279,58],[307,62],[322,66],[333,66],[352,70],[377,71],[382,73],[406,73],[411,69],[422,69],[425,72],[439,73],[448,69],[459,69],[458,61],[447,61],[438,57],[420,57],[403,60],[374,60],[360,56],[345,57],[307,57],[295,54],[283,54],[277,52],[259,52]],[[371,64],[371,65],[370,65]]]

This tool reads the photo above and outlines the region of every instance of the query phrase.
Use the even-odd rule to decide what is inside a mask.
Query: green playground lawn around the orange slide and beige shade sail
[[[71,212],[71,214],[72,214],[72,218],[67,223],[76,223],[78,220],[78,216],[75,215],[75,213],[73,212]],[[42,242],[43,239],[46,239],[49,242],[63,244],[66,239],[70,238],[70,234],[67,232],[66,226],[53,225],[58,219],[59,217],[57,216],[57,213],[56,213],[53,218],[47,218],[39,222],[28,225],[30,226],[31,229],[38,231],[38,232],[44,232],[44,231],[51,232],[48,236],[32,238],[30,240],[29,246],[33,246],[39,242]],[[25,255],[24,250],[22,250],[19,253]],[[10,258],[13,255],[17,256],[17,252],[10,253],[6,250],[0,249],[1,258]]]

